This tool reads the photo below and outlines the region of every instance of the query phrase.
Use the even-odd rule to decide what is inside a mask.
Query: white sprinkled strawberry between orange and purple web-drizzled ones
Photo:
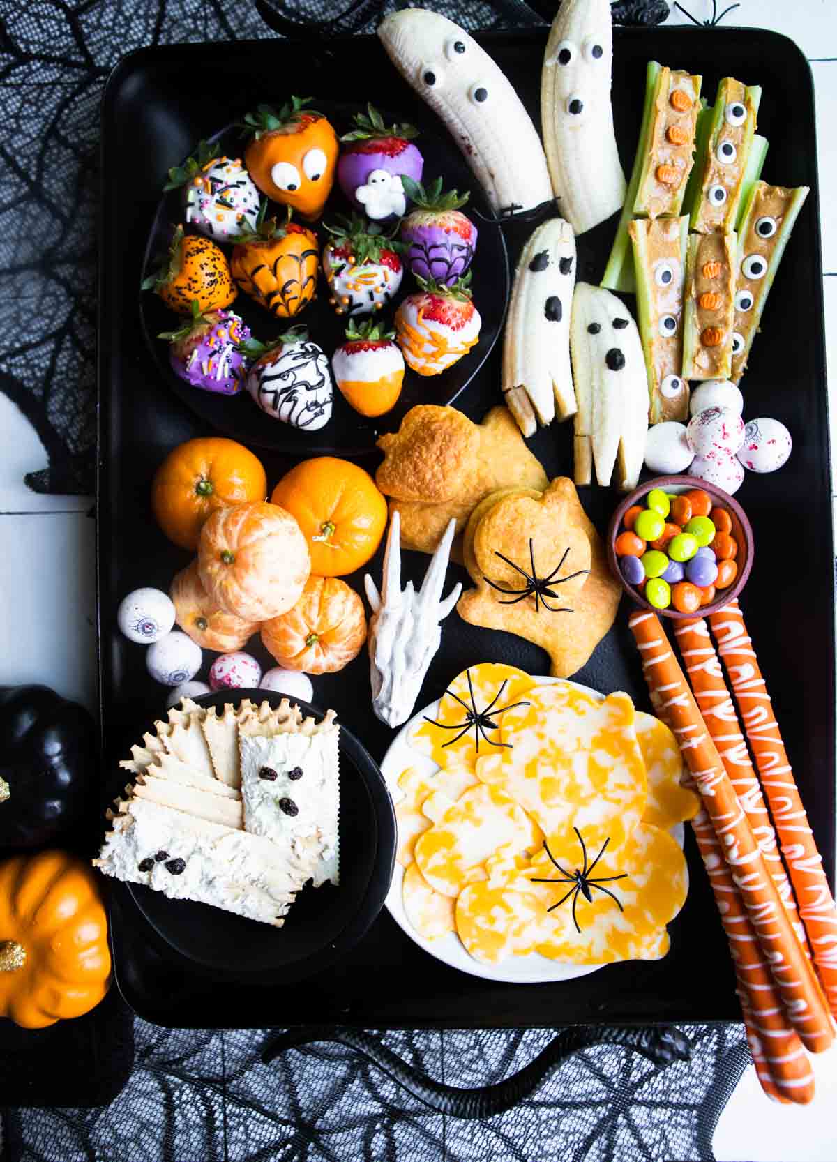
[[[375,222],[357,214],[323,227],[331,235],[323,248],[322,267],[338,315],[371,315],[389,302],[403,278],[394,242]]]

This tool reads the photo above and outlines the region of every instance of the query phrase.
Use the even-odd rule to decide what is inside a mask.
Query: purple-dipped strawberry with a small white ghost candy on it
[[[412,143],[413,125],[385,125],[374,106],[355,115],[355,129],[337,162],[337,181],[349,201],[373,222],[401,217],[407,198],[401,177],[421,181],[424,160]]]

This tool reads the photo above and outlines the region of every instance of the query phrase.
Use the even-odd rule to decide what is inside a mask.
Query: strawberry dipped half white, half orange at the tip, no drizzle
[[[394,338],[371,318],[359,327],[352,321],[331,358],[337,387],[362,416],[382,416],[401,394],[403,356]]]

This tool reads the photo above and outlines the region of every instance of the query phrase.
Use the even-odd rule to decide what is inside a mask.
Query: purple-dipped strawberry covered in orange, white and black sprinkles
[[[250,328],[231,310],[201,315],[193,302],[192,318],[157,338],[169,340],[172,370],[187,383],[221,395],[241,392],[248,360],[238,344],[250,338]]]

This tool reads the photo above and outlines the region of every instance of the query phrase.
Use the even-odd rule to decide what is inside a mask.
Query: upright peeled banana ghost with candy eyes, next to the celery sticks
[[[552,189],[577,235],[622,208],[610,105],[613,26],[608,0],[564,0],[546,42],[541,121]]]

